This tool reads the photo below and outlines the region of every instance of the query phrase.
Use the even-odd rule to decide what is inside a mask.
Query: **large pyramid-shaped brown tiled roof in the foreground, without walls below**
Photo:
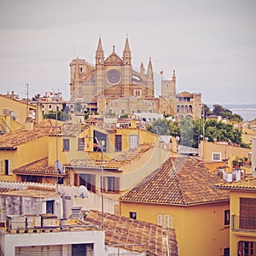
[[[229,200],[228,191],[214,188],[219,177],[192,158],[171,157],[121,201],[167,205],[192,205]]]

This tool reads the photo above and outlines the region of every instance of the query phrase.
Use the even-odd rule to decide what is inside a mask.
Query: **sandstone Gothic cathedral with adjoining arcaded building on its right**
[[[85,112],[100,114],[163,113],[177,119],[201,118],[201,93],[176,93],[176,75],[161,80],[161,94],[154,95],[154,71],[149,58],[147,69],[132,68],[131,49],[125,39],[123,55],[113,52],[107,58],[99,38],[95,65],[84,59],[70,63],[70,101],[81,102]]]

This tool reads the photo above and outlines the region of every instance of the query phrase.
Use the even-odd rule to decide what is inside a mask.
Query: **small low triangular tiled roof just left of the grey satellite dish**
[[[41,175],[56,175],[57,172],[54,166],[48,166],[48,157],[34,161],[26,166],[21,166],[15,169],[15,173],[32,173]]]

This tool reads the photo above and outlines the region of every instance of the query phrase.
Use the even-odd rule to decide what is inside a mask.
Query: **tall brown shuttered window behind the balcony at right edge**
[[[256,198],[240,198],[239,228],[256,230]]]

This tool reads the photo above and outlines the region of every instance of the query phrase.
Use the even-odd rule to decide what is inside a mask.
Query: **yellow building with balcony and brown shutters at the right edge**
[[[230,256],[255,256],[256,177],[216,187],[230,191]]]

